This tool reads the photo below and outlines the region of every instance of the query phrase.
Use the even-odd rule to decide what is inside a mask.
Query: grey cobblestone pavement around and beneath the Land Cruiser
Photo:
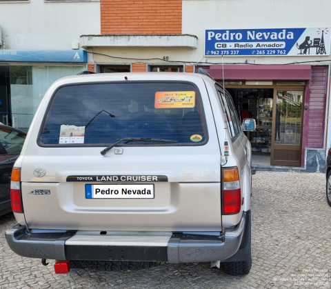
[[[4,232],[15,223],[8,214],[0,217],[0,288],[330,288],[325,175],[257,172],[252,178],[253,264],[247,276],[225,275],[210,263],[162,263],[134,272],[72,269],[56,275],[54,261],[45,267],[40,259],[8,248]]]

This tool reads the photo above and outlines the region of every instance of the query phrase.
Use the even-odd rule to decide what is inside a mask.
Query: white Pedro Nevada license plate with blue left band
[[[85,185],[86,199],[154,199],[154,184]]]

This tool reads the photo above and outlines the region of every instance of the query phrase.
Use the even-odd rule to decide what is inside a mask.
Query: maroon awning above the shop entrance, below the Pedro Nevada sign
[[[211,65],[214,79],[223,79],[222,66]],[[308,80],[310,65],[224,65],[225,80]]]

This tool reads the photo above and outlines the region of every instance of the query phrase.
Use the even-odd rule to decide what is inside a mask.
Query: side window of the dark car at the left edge
[[[26,136],[14,130],[0,128],[0,142],[8,155],[19,155]]]

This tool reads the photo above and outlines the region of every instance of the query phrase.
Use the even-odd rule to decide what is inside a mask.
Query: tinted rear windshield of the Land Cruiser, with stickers
[[[201,145],[208,136],[204,119],[199,91],[189,83],[66,86],[52,100],[39,144],[99,146],[143,137],[177,141],[145,146]]]

